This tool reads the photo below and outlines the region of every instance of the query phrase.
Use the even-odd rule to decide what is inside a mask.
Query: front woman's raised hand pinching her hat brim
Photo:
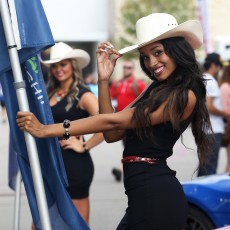
[[[101,43],[97,49],[98,81],[108,81],[113,73],[116,61],[122,55],[109,42]]]

